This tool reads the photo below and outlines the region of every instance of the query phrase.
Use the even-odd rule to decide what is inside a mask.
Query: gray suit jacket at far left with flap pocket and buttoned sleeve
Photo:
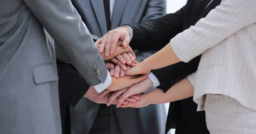
[[[88,84],[105,81],[105,63],[70,0],[0,3],[0,134],[61,134],[58,75],[49,34]],[[103,68],[101,76],[93,65]]]

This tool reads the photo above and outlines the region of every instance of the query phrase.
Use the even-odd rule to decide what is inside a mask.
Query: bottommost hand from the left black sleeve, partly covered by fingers
[[[106,90],[102,91],[104,92],[104,96],[102,95],[102,97],[98,97],[98,93],[95,90],[95,88],[93,86],[90,86],[90,88],[88,89],[88,91],[84,94],[84,97],[86,97],[87,99],[95,102],[95,103],[99,103],[99,104],[107,104],[109,97],[112,95],[112,92],[106,92]],[[133,97],[133,98],[128,98],[125,100],[125,102],[123,103],[123,105],[127,105],[128,103],[134,103],[136,101],[140,100],[139,97]],[[117,104],[118,99],[113,101],[113,105]]]

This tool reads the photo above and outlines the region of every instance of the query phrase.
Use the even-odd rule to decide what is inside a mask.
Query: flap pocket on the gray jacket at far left
[[[33,77],[36,84],[58,80],[58,73],[52,64],[33,68]]]

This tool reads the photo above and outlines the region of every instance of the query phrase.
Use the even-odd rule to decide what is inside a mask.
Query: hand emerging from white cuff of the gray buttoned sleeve
[[[125,77],[120,77],[118,79],[116,79],[115,77],[111,77],[112,83],[110,84],[110,86],[108,86],[107,89],[110,91],[117,91],[117,90],[120,90],[123,88],[127,88],[135,83],[138,83],[138,82],[146,79],[147,77],[148,77],[148,75],[125,76]]]

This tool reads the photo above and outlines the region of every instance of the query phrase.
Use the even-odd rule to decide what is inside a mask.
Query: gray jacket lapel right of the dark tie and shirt
[[[115,0],[110,29],[115,29],[119,26],[127,1],[128,0]]]

